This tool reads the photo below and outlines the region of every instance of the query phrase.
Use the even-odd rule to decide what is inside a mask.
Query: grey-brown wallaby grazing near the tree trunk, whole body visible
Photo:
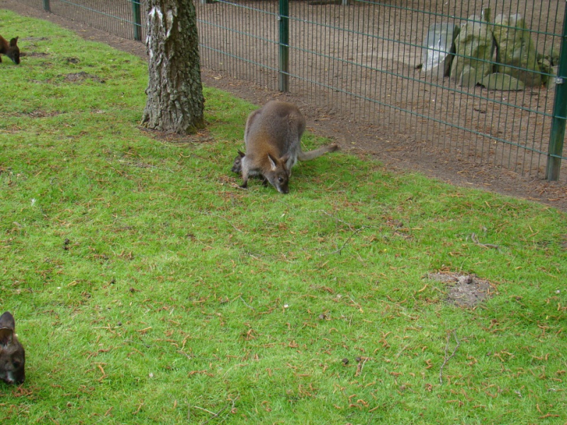
[[[249,176],[262,176],[280,193],[289,193],[291,167],[299,159],[309,161],[339,149],[327,145],[310,152],[301,150],[301,135],[305,118],[292,103],[270,101],[252,112],[246,121],[244,141],[246,153],[238,152],[232,171],[242,172],[242,188],[248,186]],[[240,163],[240,164],[239,164]]]

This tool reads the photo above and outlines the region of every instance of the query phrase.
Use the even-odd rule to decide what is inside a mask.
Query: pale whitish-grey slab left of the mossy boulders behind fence
[[[459,26],[452,23],[435,23],[430,26],[425,39],[427,48],[422,50],[422,72],[438,79],[449,76],[459,30]]]

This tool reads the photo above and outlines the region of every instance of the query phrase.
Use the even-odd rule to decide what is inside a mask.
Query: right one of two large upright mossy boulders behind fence
[[[511,75],[526,86],[539,86],[541,69],[537,64],[538,55],[522,15],[496,16],[493,33],[498,46],[498,72]]]

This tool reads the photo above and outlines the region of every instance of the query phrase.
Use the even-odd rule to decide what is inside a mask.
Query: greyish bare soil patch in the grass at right
[[[475,307],[492,295],[490,281],[475,275],[429,273],[427,278],[447,283],[447,302],[458,307]]]

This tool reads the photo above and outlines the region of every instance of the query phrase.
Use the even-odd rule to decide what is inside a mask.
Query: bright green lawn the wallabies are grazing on
[[[27,54],[0,64],[0,310],[27,351],[2,424],[566,423],[564,213],[344,153],[243,191],[254,106],[207,88],[208,133],[153,138],[142,60],[0,21]],[[450,305],[439,270],[493,297]]]

